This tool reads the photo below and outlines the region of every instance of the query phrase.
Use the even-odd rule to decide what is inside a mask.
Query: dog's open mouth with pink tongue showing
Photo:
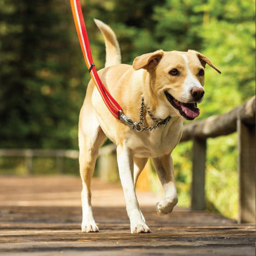
[[[165,92],[165,96],[167,100],[171,103],[171,105],[180,112],[181,116],[185,117],[187,120],[193,120],[199,116],[200,111],[199,108],[197,108],[196,102],[182,103],[180,101],[177,101],[168,92]]]

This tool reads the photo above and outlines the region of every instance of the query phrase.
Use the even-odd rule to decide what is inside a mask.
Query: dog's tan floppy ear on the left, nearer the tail
[[[135,70],[144,68],[148,71],[152,71],[159,64],[163,54],[163,50],[157,50],[153,53],[146,53],[138,56],[133,61],[133,68]]]

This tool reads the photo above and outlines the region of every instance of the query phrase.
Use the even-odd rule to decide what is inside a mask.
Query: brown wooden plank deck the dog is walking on
[[[99,233],[80,233],[80,178],[0,176],[0,255],[255,255],[255,226],[176,208],[156,214],[159,195],[138,192],[150,234],[130,234],[119,185],[92,186]]]

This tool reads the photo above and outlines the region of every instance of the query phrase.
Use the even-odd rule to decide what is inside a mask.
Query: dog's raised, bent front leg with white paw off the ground
[[[154,158],[153,162],[165,192],[165,198],[156,204],[156,211],[159,215],[165,215],[172,212],[178,202],[172,157],[165,155]]]

